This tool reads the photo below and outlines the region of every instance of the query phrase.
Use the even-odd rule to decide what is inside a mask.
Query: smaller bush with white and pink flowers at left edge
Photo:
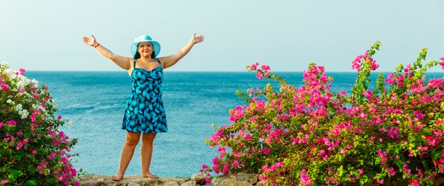
[[[0,185],[79,185],[48,86],[0,64]]]

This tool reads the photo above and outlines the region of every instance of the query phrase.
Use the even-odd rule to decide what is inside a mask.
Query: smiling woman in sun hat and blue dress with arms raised
[[[150,172],[152,156],[152,142],[158,132],[167,132],[167,120],[160,91],[163,79],[163,69],[176,64],[182,59],[194,44],[204,41],[204,36],[192,35],[191,40],[176,54],[167,57],[157,57],[160,52],[159,42],[149,35],[140,35],[135,38],[131,46],[133,57],[122,57],[113,54],[106,47],[96,41],[94,35],[83,37],[83,42],[94,47],[117,66],[128,71],[133,81],[133,91],[126,103],[122,129],[126,129],[126,141],[123,144],[121,163],[116,175],[112,179],[123,179],[126,168],[133,157],[135,146],[142,136],[140,155],[142,158],[142,175],[144,178],[158,178]]]

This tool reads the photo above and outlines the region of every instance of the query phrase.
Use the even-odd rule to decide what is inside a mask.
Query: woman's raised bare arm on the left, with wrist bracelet
[[[106,49],[106,47],[99,44],[99,42],[96,41],[96,37],[94,35],[91,35],[91,38],[84,36],[82,38],[83,42],[91,47],[96,48],[97,51],[100,52],[104,57],[111,59],[117,66],[121,67],[122,69],[130,69],[131,67],[131,60],[133,60],[130,57],[123,57],[116,54],[113,54],[111,50]]]

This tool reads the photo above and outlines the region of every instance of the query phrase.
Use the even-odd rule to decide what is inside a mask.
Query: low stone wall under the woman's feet
[[[95,186],[199,186],[206,185],[205,177],[201,174],[192,175],[190,178],[160,177],[158,179],[142,178],[140,175],[124,176],[120,182],[111,180],[109,175],[84,175],[81,185]],[[236,175],[216,176],[211,184],[206,186],[263,186],[258,183],[257,175],[238,173]]]

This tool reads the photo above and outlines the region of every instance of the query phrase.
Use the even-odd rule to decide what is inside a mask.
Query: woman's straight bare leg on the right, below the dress
[[[156,137],[155,133],[142,134],[142,147],[140,148],[140,156],[142,158],[142,175],[150,175],[150,164],[152,157],[152,142]]]

